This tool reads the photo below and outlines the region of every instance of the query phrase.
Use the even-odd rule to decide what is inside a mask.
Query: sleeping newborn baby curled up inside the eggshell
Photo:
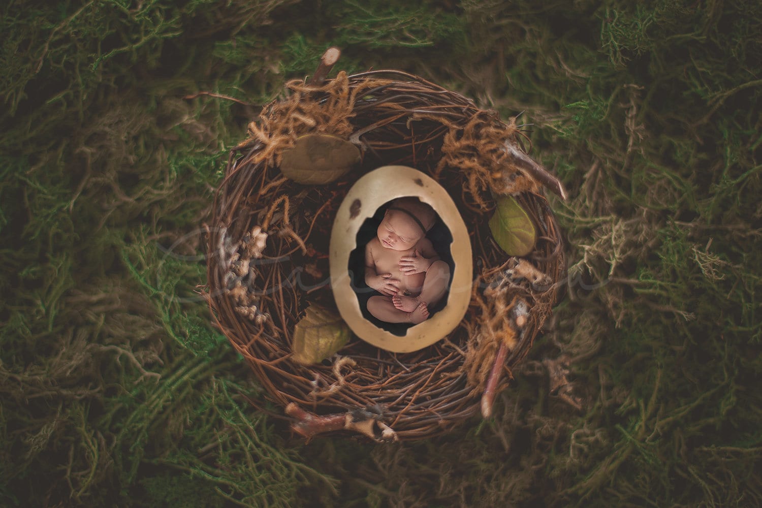
[[[450,267],[440,260],[426,232],[437,212],[415,197],[392,201],[376,237],[365,247],[365,283],[381,295],[371,296],[371,315],[387,323],[418,324],[442,299]]]

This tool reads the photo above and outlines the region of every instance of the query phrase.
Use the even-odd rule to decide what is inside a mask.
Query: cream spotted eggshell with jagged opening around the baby
[[[360,312],[360,303],[351,288],[349,256],[357,248],[360,226],[384,203],[403,196],[418,197],[428,203],[450,228],[450,252],[455,268],[447,305],[434,316],[408,328],[405,336],[391,334]],[[409,353],[431,346],[446,337],[466,315],[471,299],[472,252],[469,232],[447,190],[427,174],[407,166],[383,166],[364,175],[347,193],[331,230],[331,289],[341,318],[362,340],[393,353]]]

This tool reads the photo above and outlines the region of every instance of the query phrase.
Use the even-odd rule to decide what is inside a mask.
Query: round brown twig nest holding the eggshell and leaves
[[[543,196],[559,182],[526,155],[515,118],[503,122],[457,94],[394,70],[290,81],[232,149],[208,228],[209,301],[220,330],[251,365],[297,433],[362,433],[379,441],[447,432],[487,417],[511,369],[527,355],[565,276],[562,238]],[[328,184],[280,171],[300,136],[348,140],[361,160]],[[442,340],[392,353],[356,336],[312,365],[294,355],[310,305],[338,315],[329,239],[352,184],[374,168],[408,165],[437,181],[469,232],[472,287],[466,315]],[[506,254],[488,220],[513,196],[536,228],[530,254]]]

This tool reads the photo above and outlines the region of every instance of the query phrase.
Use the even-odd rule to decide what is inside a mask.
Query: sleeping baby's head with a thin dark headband
[[[384,248],[407,251],[437,222],[437,212],[416,197],[400,197],[386,209],[376,235]]]

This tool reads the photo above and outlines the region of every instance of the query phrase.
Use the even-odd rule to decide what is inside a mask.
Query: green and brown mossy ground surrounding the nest
[[[10,0],[0,33],[0,506],[762,504],[756,0]],[[294,439],[196,292],[227,151],[331,45],[524,111],[571,196],[566,299],[449,436]]]

